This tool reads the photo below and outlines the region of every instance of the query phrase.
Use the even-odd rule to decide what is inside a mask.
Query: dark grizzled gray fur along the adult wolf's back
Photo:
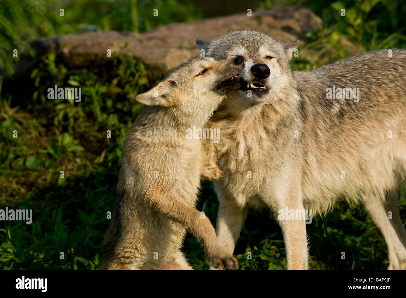
[[[304,113],[328,116],[327,122],[334,121],[331,116],[368,121],[400,111],[406,115],[406,49],[394,49],[392,57],[388,53],[369,51],[313,71],[294,72]]]

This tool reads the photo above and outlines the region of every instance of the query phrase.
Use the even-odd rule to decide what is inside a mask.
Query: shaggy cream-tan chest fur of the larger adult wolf
[[[298,162],[300,143],[293,137],[297,123],[292,118],[280,119],[279,116],[269,107],[250,118],[225,117],[217,122],[214,119],[214,126],[221,135],[216,144],[218,166],[223,170],[220,182],[240,206],[247,203],[264,206],[270,186],[284,180],[285,167]],[[276,118],[276,125],[264,125],[266,119]]]

